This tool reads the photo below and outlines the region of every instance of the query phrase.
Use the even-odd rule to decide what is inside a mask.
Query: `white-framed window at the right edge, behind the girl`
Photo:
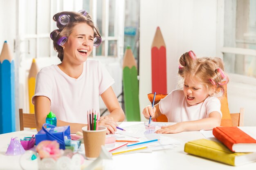
[[[256,78],[256,0],[225,1],[224,6],[226,71]]]

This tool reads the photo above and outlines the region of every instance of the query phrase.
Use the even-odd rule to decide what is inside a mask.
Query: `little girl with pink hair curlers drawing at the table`
[[[168,122],[177,122],[171,126],[162,126],[156,133],[178,133],[184,130],[210,130],[220,126],[220,96],[223,85],[229,79],[223,72],[223,62],[218,57],[197,58],[193,51],[180,57],[178,75],[184,84],[182,90],[174,90],[161,99],[153,108],[146,106],[143,115],[152,119],[161,114]]]

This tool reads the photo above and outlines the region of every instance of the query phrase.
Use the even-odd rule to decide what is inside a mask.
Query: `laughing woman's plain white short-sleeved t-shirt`
[[[99,112],[99,95],[106,91],[114,79],[99,61],[87,60],[77,78],[64,73],[57,65],[42,68],[36,75],[35,96],[51,101],[51,111],[57,121],[87,124],[87,111]]]

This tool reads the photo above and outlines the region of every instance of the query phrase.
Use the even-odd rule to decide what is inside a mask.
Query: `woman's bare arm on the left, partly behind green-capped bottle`
[[[36,116],[36,130],[41,130],[43,124],[45,124],[45,119],[50,112],[50,99],[45,96],[35,97],[35,116]],[[71,133],[76,133],[77,131],[82,132],[82,127],[86,124],[76,124],[69,123],[66,121],[57,120],[57,126],[70,126]]]

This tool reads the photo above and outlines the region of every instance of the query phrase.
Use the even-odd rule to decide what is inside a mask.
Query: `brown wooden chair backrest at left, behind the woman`
[[[36,118],[35,114],[23,113],[23,109],[19,109],[20,113],[20,130],[24,128],[36,128]]]

